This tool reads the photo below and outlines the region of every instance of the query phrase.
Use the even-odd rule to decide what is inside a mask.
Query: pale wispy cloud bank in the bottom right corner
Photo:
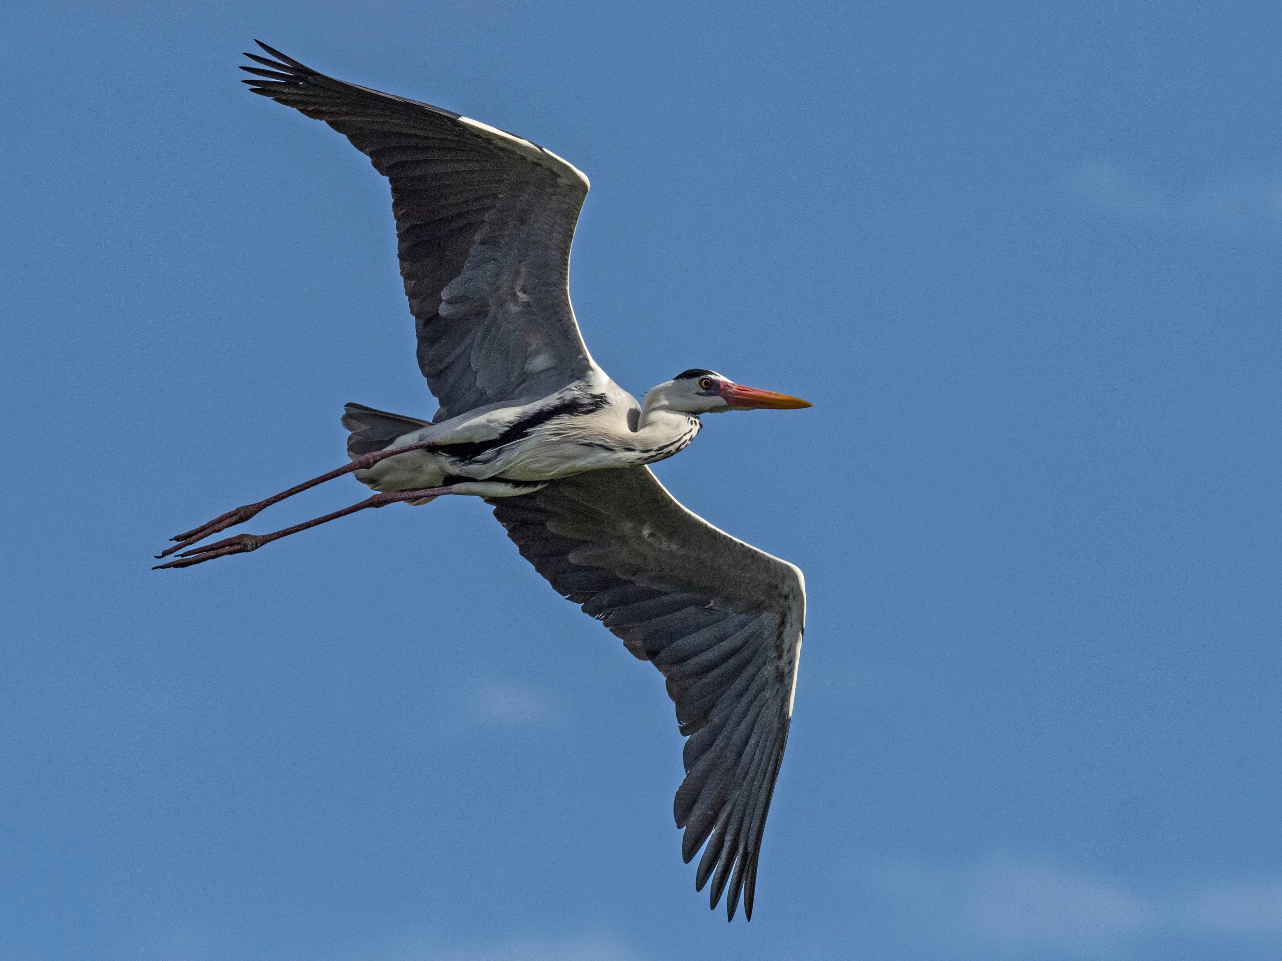
[[[1123,961],[1145,943],[1272,939],[1282,949],[1282,882],[1136,891],[1047,862],[990,857],[962,867],[896,864],[874,878],[910,939],[950,957]]]

